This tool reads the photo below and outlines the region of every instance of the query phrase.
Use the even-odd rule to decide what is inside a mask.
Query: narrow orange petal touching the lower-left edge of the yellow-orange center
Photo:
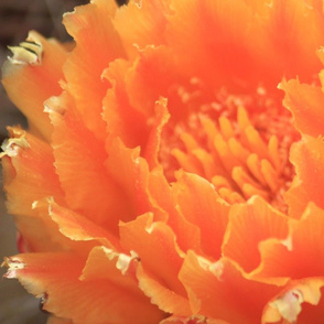
[[[184,218],[199,228],[203,252],[219,259],[229,207],[203,177],[184,172],[177,173],[176,177],[173,186],[175,204]]]

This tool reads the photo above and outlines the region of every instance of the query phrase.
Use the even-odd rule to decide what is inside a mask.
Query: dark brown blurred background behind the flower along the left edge
[[[68,40],[62,14],[73,11],[75,6],[87,0],[0,0],[0,65],[11,55],[8,45],[24,41],[30,30],[36,30],[46,37]],[[125,1],[118,1],[125,2]],[[0,85],[0,141],[7,137],[6,126],[25,126],[25,120],[13,107]],[[0,175],[2,188],[2,172]],[[4,195],[0,193],[0,263],[6,256],[18,252],[14,225],[6,213]],[[17,280],[4,279],[6,269],[0,270],[0,324],[43,324],[46,314],[39,307],[39,300],[29,295]]]

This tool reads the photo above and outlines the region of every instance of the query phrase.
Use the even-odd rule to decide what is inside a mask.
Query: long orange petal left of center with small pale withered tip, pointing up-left
[[[56,173],[68,207],[116,234],[118,218],[129,214],[129,205],[105,168],[105,143],[85,127],[68,93],[46,106],[54,126]]]

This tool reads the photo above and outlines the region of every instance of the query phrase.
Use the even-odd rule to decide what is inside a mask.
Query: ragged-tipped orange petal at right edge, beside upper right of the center
[[[292,112],[298,130],[312,137],[324,134],[324,94],[322,89],[300,84],[298,79],[283,80],[279,88],[285,91],[283,105]]]

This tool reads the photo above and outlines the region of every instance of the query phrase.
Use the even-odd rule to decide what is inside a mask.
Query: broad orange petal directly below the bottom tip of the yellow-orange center
[[[255,196],[247,204],[231,207],[223,253],[250,272],[261,261],[259,244],[270,238],[285,239],[288,234],[288,217]]]

